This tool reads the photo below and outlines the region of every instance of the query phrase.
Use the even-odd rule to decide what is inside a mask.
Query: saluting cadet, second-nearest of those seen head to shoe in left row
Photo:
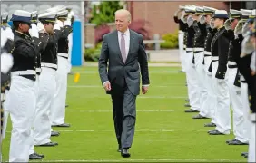
[[[49,12],[38,15],[39,21],[44,25],[40,31],[40,37],[49,37],[45,50],[41,53],[41,69],[39,77],[39,95],[36,101],[36,113],[34,120],[34,145],[35,146],[56,146],[58,143],[52,142],[50,111],[53,106],[54,92],[56,89],[55,75],[57,66],[58,41],[66,37],[70,29],[61,29],[55,24],[56,12]],[[39,25],[39,23],[38,23]],[[54,132],[54,135],[59,133]]]

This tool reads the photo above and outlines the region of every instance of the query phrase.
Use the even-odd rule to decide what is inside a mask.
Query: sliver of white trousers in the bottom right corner
[[[251,136],[249,141],[249,155],[248,155],[248,162],[256,162],[255,152],[256,152],[256,142],[255,142],[255,132],[256,132],[256,123],[250,124],[251,126]]]

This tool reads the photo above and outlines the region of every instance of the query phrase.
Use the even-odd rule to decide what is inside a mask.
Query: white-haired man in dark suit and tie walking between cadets
[[[99,74],[105,91],[112,97],[118,151],[123,158],[129,158],[136,120],[135,101],[140,93],[140,71],[143,94],[148,91],[150,81],[143,36],[128,29],[131,14],[123,9],[116,11],[115,24],[116,30],[103,36]]]

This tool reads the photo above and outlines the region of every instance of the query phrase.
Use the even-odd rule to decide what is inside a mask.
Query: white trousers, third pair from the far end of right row
[[[198,94],[199,94],[199,100],[200,100],[200,115],[203,117],[210,118],[209,114],[209,103],[207,103],[207,89],[206,89],[206,83],[205,83],[205,72],[204,72],[204,66],[202,64],[203,62],[204,53],[198,52],[194,53],[194,62],[195,62],[195,70],[196,70],[196,79],[198,81]]]

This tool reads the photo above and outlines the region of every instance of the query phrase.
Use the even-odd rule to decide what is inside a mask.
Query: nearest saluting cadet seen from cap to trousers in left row
[[[15,31],[15,50],[7,106],[13,126],[9,161],[28,162],[35,105],[35,61],[44,43],[38,39],[36,26],[31,25],[31,13],[16,10],[11,21]]]

